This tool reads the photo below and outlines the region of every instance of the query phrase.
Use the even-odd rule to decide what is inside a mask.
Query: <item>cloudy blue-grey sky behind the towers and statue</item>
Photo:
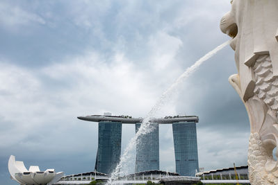
[[[8,159],[66,175],[94,170],[97,123],[77,116],[144,117],[163,91],[229,37],[229,0],[0,1],[0,184]],[[247,165],[250,125],[228,78],[225,47],[156,115],[196,115],[199,167]],[[135,134],[123,125],[122,150]],[[175,171],[172,126],[160,126],[160,168]]]

